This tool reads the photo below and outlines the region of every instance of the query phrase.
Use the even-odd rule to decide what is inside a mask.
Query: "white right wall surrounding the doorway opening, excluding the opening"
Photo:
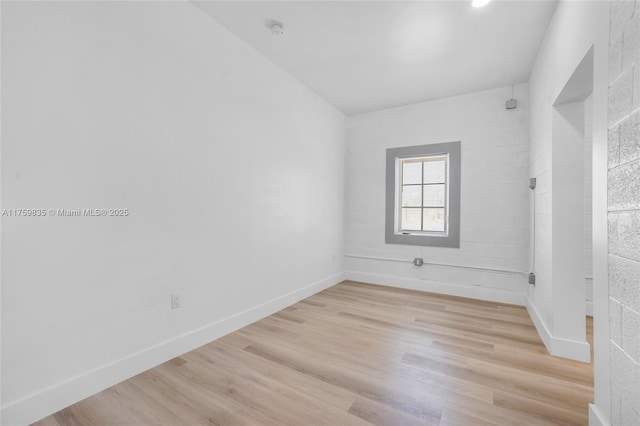
[[[572,2],[558,4],[547,35],[540,48],[529,80],[530,99],[530,174],[538,178],[536,191],[536,276],[529,289],[528,307],[538,331],[553,339],[552,271],[552,110],[553,102],[580,61],[594,47],[593,86],[593,285],[595,334],[595,406],[593,413],[603,421],[609,418],[609,355],[607,304],[607,228],[606,228],[606,121],[608,2]],[[561,258],[558,258],[561,261]],[[562,342],[561,342],[562,343]],[[570,344],[571,342],[569,342]],[[598,414],[599,413],[599,414]],[[592,416],[593,417],[593,416]]]

